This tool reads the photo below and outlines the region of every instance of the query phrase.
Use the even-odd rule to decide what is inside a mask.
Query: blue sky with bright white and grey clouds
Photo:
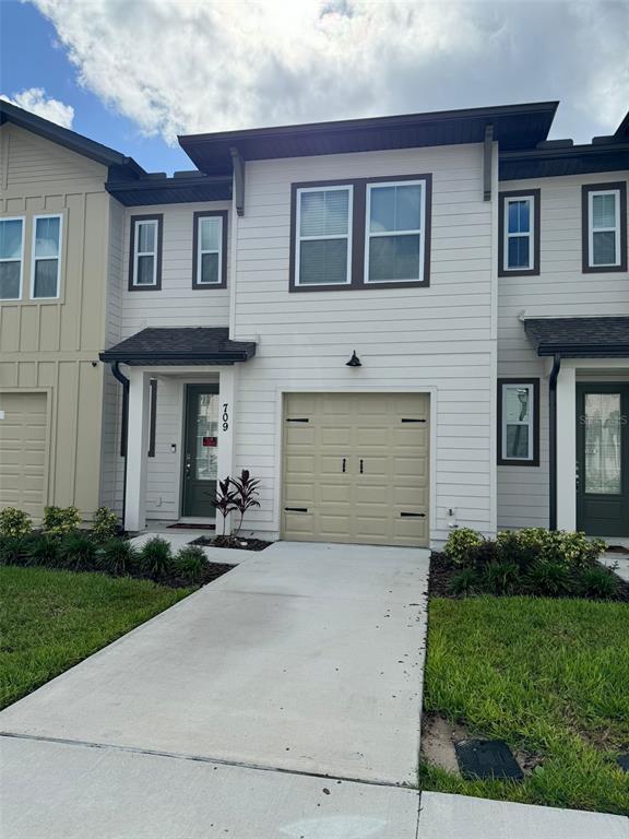
[[[629,110],[629,0],[0,0],[0,95],[134,157],[177,134],[560,99]]]

